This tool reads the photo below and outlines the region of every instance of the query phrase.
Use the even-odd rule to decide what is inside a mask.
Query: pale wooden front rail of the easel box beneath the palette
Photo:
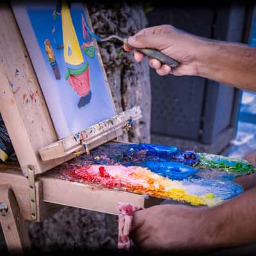
[[[51,171],[37,177],[44,186],[44,202],[68,205],[108,214],[118,214],[118,202],[130,203],[145,207],[147,200],[144,195],[102,188],[93,184],[71,182],[58,179]],[[147,203],[146,203],[147,202]],[[157,201],[159,203],[159,201]]]

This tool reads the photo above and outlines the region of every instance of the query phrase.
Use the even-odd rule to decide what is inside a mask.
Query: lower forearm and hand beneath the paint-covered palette
[[[213,208],[157,205],[134,212],[132,239],[144,250],[211,250],[256,243],[256,189]]]

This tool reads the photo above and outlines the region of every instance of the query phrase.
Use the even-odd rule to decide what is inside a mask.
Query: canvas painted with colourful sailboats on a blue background
[[[13,3],[58,138],[116,115],[86,6]],[[31,97],[24,95],[24,104]]]

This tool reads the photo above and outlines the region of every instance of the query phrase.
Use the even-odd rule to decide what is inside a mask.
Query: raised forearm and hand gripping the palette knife
[[[179,61],[177,68],[150,59],[159,75],[202,76],[238,88],[256,91],[256,48],[191,35],[170,25],[141,30],[128,40],[133,47],[158,49]],[[126,51],[131,51],[124,45]],[[143,54],[134,52],[137,61]]]

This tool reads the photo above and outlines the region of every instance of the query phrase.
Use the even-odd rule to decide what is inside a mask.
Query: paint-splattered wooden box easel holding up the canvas
[[[0,9],[0,31],[0,112],[20,166],[0,169],[0,222],[9,252],[29,251],[24,220],[42,221],[63,205],[118,214],[118,202],[141,207],[159,204],[161,200],[158,198],[145,198],[113,189],[95,189],[92,184],[51,177],[51,168],[76,156],[72,152],[77,150],[77,145],[70,151],[70,148],[61,149],[61,142],[57,143],[63,155],[42,160],[40,149],[44,148],[45,152],[45,147],[56,143],[58,138],[12,8],[8,5]],[[35,92],[36,103],[24,104],[23,95]],[[109,140],[113,138],[109,137]]]

